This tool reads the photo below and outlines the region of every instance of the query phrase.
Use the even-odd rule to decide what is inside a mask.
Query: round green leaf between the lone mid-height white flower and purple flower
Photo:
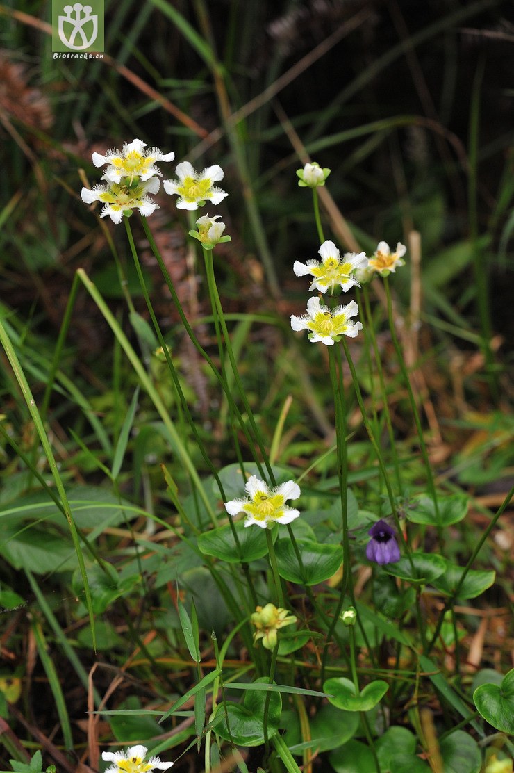
[[[284,580],[299,585],[316,585],[332,577],[342,564],[340,545],[320,545],[314,540],[296,540],[296,543],[303,567],[298,565],[291,540],[277,540],[275,545],[278,574]]]

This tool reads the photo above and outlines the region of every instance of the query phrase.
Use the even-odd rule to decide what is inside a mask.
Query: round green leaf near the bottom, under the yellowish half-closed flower
[[[267,683],[266,676],[256,679],[257,683]],[[216,724],[216,733],[236,746],[260,746],[264,744],[264,704],[266,703],[266,690],[249,690],[244,693],[243,703],[228,701],[226,713],[228,714],[228,727],[226,717]],[[280,693],[269,693],[269,707],[267,713],[267,737],[272,738],[277,734],[278,724],[281,718],[282,700]],[[220,704],[216,717],[223,715],[223,704]],[[230,727],[230,733],[229,733]]]

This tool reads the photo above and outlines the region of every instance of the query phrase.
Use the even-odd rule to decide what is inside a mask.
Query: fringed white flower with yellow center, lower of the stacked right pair
[[[301,317],[291,315],[291,328],[310,330],[308,338],[312,343],[321,341],[326,346],[333,346],[342,335],[355,338],[359,330],[363,329],[360,322],[349,322],[349,319],[358,313],[359,306],[355,301],[350,301],[346,306],[336,306],[331,311],[328,306],[321,305],[319,298],[309,298],[307,314],[302,314]]]

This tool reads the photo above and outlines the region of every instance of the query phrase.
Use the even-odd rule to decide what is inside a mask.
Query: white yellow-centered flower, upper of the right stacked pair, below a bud
[[[307,263],[300,263],[294,261],[293,271],[297,277],[305,277],[306,274],[311,274],[314,277],[309,290],[320,292],[330,290],[333,295],[337,287],[346,292],[354,284],[359,286],[353,272],[358,268],[367,266],[366,253],[346,252],[341,257],[338,248],[329,240],[322,243],[318,253],[322,257],[321,262],[311,260]]]

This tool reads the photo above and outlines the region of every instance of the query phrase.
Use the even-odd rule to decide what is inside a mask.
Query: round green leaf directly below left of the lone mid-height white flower
[[[230,523],[220,526],[218,529],[204,532],[198,537],[198,547],[207,556],[214,556],[226,561],[227,564],[240,564],[255,561],[257,558],[267,556],[266,533],[259,526],[245,526],[244,521],[233,523],[239,547],[233,538]],[[277,539],[277,529],[271,530],[271,536]]]

